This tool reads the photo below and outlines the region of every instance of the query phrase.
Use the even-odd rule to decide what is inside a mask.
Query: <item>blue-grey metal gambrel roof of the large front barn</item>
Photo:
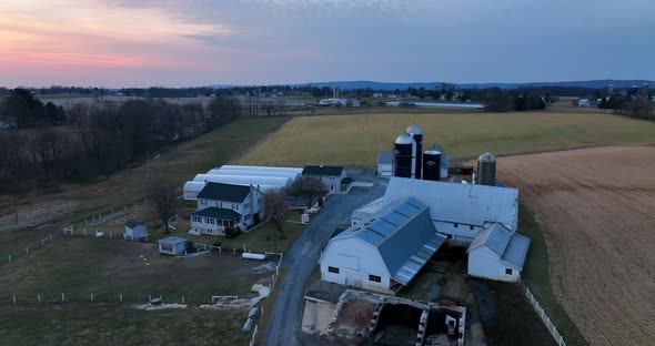
[[[411,197],[334,238],[352,236],[377,247],[391,277],[403,285],[414,278],[445,241],[434,230],[429,206]]]

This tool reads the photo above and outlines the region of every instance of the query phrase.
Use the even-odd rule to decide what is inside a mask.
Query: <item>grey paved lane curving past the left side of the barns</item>
[[[304,283],[319,263],[321,250],[335,227],[347,224],[352,211],[362,204],[381,197],[386,181],[376,180],[373,187],[354,187],[346,195],[331,195],[321,213],[303,231],[285,254],[283,266],[288,268],[280,292],[269,315],[264,345],[299,345],[301,332]]]

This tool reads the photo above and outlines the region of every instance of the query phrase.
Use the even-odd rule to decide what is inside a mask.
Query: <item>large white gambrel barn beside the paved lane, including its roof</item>
[[[394,294],[444,241],[429,206],[406,199],[331,238],[320,260],[321,279]]]

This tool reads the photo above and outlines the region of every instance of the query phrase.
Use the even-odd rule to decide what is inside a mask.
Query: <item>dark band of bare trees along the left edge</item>
[[[229,96],[206,106],[161,99],[77,103],[56,108],[57,121],[39,103],[23,90],[0,100],[0,120],[13,119],[19,128],[0,130],[0,190],[109,174],[242,114]]]

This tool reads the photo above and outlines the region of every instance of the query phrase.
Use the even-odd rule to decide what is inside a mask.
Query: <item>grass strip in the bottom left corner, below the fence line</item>
[[[1,306],[2,345],[248,345],[248,309],[144,312],[121,305]]]

